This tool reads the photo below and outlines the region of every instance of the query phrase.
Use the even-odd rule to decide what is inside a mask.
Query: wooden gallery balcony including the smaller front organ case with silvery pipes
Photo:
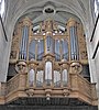
[[[96,84],[89,82],[80,75],[79,62],[70,64],[62,62],[54,64],[55,66],[52,65],[52,61],[45,64],[38,64],[35,61],[29,63],[19,61],[18,74],[7,82],[0,82],[0,105],[13,102],[20,98],[46,98],[46,100],[76,98],[97,106]]]

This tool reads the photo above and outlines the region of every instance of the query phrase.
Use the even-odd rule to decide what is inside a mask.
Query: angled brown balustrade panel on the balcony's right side
[[[78,90],[80,94],[91,97],[91,84],[88,80],[77,74],[70,74],[69,76],[69,84],[73,90]]]

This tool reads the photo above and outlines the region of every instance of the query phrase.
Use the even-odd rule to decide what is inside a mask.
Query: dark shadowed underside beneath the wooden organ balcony
[[[98,110],[76,98],[19,98],[0,106],[0,110]]]

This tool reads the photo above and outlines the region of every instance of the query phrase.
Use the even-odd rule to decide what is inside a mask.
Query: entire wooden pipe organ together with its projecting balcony
[[[40,96],[48,100],[68,96],[96,106],[82,24],[70,18],[62,30],[51,19],[37,28],[29,18],[20,20],[13,32],[4,87],[7,102],[19,96]]]

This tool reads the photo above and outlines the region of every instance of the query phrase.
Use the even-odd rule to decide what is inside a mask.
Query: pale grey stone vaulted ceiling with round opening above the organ
[[[7,23],[11,22],[11,28],[24,15],[34,24],[47,18],[62,24],[75,18],[86,24],[89,14],[89,0],[7,0]]]

